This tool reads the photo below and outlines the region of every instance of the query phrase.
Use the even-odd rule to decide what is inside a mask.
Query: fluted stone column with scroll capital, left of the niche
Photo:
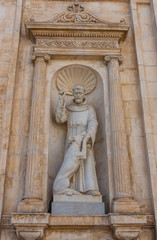
[[[45,209],[42,194],[42,165],[45,159],[44,142],[46,137],[45,119],[45,77],[48,54],[32,54],[34,79],[32,106],[27,151],[25,195],[18,205],[18,212],[43,212]]]

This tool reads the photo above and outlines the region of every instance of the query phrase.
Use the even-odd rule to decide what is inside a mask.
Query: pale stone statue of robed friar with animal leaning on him
[[[83,85],[73,87],[73,102],[66,105],[65,92],[59,92],[56,121],[67,122],[66,150],[63,164],[53,185],[54,194],[100,195],[93,146],[97,132],[97,118],[92,105],[85,98]]]

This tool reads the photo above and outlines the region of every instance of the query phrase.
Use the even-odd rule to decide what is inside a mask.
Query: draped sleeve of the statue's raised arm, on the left
[[[68,110],[65,105],[61,106],[59,102],[57,104],[55,119],[57,123],[65,123],[68,120]]]

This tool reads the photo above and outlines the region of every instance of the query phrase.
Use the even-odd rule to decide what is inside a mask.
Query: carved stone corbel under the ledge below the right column
[[[141,228],[115,226],[113,233],[114,238],[117,240],[138,240],[140,239]]]

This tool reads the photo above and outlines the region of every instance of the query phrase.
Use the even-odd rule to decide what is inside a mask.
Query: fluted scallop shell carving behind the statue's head
[[[73,95],[72,88],[81,84],[85,88],[85,94],[91,93],[96,87],[97,79],[93,71],[82,65],[71,65],[62,68],[56,77],[59,90],[64,89],[67,95]]]

